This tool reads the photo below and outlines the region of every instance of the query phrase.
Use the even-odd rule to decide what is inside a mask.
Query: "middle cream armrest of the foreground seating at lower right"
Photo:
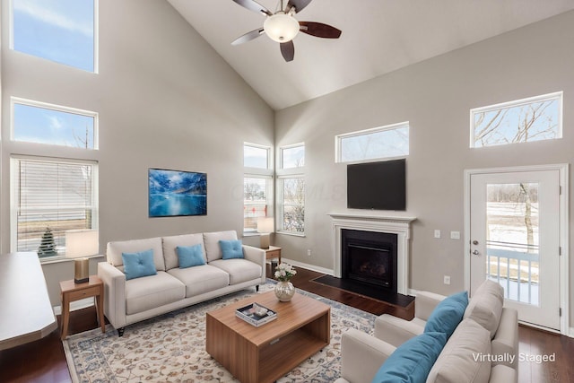
[[[417,318],[404,320],[389,314],[383,314],[375,319],[375,337],[392,344],[395,347],[424,331],[425,323]]]

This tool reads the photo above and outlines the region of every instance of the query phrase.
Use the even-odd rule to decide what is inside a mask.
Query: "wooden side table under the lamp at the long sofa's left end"
[[[60,282],[60,297],[62,300],[62,340],[68,335],[68,323],[70,321],[70,302],[95,298],[96,312],[100,322],[101,332],[106,332],[104,320],[104,283],[97,275],[90,275],[90,280],[85,283],[74,283],[74,280]]]

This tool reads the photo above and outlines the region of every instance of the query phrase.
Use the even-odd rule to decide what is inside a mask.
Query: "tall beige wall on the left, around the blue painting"
[[[12,153],[100,163],[100,251],[110,240],[243,230],[243,142],[272,145],[274,112],[171,7],[100,0],[100,73],[8,49],[3,0],[1,251],[10,251]],[[100,113],[100,150],[11,143],[10,97]],[[148,168],[207,173],[207,215],[148,218]],[[95,274],[92,262],[91,272]],[[52,304],[71,262],[44,265]]]

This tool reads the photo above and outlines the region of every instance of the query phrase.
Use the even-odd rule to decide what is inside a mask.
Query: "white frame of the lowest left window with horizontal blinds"
[[[72,164],[72,165],[90,165],[91,166],[91,230],[99,230],[100,227],[100,196],[99,196],[99,161],[93,160],[80,160],[69,159],[60,157],[39,157],[33,155],[13,154],[10,156],[10,250],[17,252],[18,250],[18,214],[20,213],[18,205],[18,197],[16,193],[21,190],[21,184],[16,179],[16,172],[20,169],[19,164],[21,161],[36,161],[36,162],[51,162],[57,164]],[[18,185],[14,185],[18,182]],[[55,210],[56,211],[56,210]],[[65,259],[64,254],[57,254],[53,257],[39,257],[41,264],[50,263],[53,261],[60,261]]]

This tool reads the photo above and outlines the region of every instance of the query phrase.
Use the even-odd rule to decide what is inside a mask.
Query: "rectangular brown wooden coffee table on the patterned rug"
[[[235,316],[253,302],[276,311],[277,319],[256,327]],[[331,308],[300,293],[280,302],[266,292],[208,312],[205,326],[205,350],[236,379],[273,382],[329,344]]]

